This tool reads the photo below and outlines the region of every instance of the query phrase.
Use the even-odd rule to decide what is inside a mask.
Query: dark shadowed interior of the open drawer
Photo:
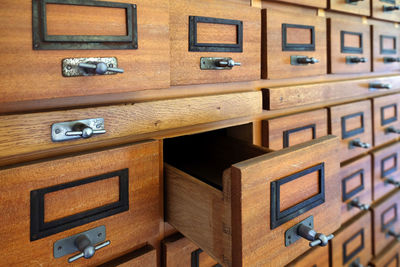
[[[269,152],[268,149],[231,137],[233,128],[166,139],[164,161],[222,190],[224,170],[235,163]]]

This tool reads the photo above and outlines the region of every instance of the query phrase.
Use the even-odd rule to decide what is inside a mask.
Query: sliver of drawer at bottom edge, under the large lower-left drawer
[[[157,251],[150,245],[129,252],[99,267],[157,267]]]

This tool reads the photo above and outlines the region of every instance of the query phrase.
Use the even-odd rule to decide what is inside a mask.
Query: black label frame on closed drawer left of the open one
[[[118,177],[119,180],[119,200],[108,205],[93,208],[84,212],[69,215],[61,219],[46,221],[45,206],[46,194],[57,191],[68,190],[70,188],[95,183],[104,179]],[[99,196],[101,197],[101,196]],[[82,198],[83,200],[83,198]],[[87,199],[86,201],[95,201]],[[70,204],[70,203],[69,203]],[[68,204],[67,204],[68,205]],[[127,211],[129,209],[129,173],[128,169],[106,173],[99,176],[86,178],[66,184],[56,185],[43,189],[31,191],[31,241],[53,235],[76,226],[87,224],[92,221],[112,216],[114,214]]]

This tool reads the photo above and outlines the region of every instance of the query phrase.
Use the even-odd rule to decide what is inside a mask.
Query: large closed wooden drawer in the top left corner
[[[169,86],[167,0],[47,2],[1,2],[0,104]],[[43,21],[39,16],[42,6],[46,7]],[[32,13],[38,17],[33,22]],[[43,36],[41,27],[47,29]],[[63,76],[63,59],[104,57],[116,57],[124,73]],[[65,68],[86,73],[77,64],[68,63]]]

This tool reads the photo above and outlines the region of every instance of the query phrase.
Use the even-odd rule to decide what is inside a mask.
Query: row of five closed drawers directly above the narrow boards
[[[102,8],[92,6],[92,4],[87,4],[87,6],[83,4],[83,6],[76,7],[73,6],[76,4],[72,6],[65,5],[66,2],[63,5],[58,5],[49,1],[35,0],[34,6],[37,6],[38,9],[36,13],[40,14],[41,8],[47,10],[48,33],[37,37],[39,38],[38,42],[35,42],[36,35],[34,34],[35,43],[33,45],[30,35],[27,34],[27,32],[31,32],[28,21],[30,16],[27,14],[27,12],[31,12],[30,6],[27,3],[25,6],[20,6],[15,1],[7,3],[8,11],[21,10],[22,8],[25,12],[6,12],[2,16],[2,19],[7,21],[7,23],[3,23],[5,25],[3,36],[9,40],[10,45],[1,48],[6,57],[4,62],[7,62],[7,66],[4,65],[3,68],[6,81],[1,88],[3,92],[1,102],[122,93],[166,88],[170,84],[258,80],[261,69],[259,55],[261,53],[264,55],[262,62],[262,76],[264,78],[276,79],[289,76],[320,75],[326,73],[327,70],[327,41],[325,35],[327,27],[325,19],[322,17],[299,14],[294,16],[283,14],[279,11],[264,10],[264,45],[263,52],[261,52],[259,45],[261,43],[259,34],[261,32],[261,15],[260,10],[257,8],[243,5],[238,8],[236,4],[225,5],[223,2],[212,3],[212,8],[210,8],[210,3],[208,2],[197,1],[189,4],[186,0],[179,0],[170,3],[171,14],[168,16],[168,12],[165,12],[165,10],[168,10],[168,1],[165,0],[138,0],[135,5],[99,3],[103,3],[101,4]],[[115,5],[122,6],[114,9],[109,8]],[[118,36],[111,35],[118,33],[121,28],[126,30],[127,21],[132,20],[132,18],[127,18],[127,21],[125,19],[118,20],[118,17],[121,17],[118,10],[124,11],[127,6],[134,6],[134,9],[137,9],[138,18],[140,18],[137,25],[134,24],[137,26],[137,32],[140,36],[137,40],[137,49],[122,52],[121,50],[116,50],[112,45],[103,45],[101,47],[101,49],[110,47],[113,49],[112,54],[110,52],[106,54],[107,56],[116,57],[118,67],[123,68],[125,73],[106,75],[105,77],[91,77],[92,73],[90,71],[80,70],[74,65],[79,63],[77,61],[78,63],[71,63],[72,65],[67,64],[65,68],[72,68],[77,73],[84,74],[84,77],[63,77],[59,64],[62,59],[91,58],[86,61],[92,65],[93,62],[97,64],[103,60],[98,58],[103,57],[105,55],[104,52],[95,51],[93,49],[99,48],[92,47],[100,42],[86,45],[87,40],[85,43],[84,35],[92,34],[86,38],[95,38],[93,35],[101,33],[105,34],[100,36],[105,40],[112,37],[118,38]],[[97,11],[97,9],[99,9],[99,12],[93,12]],[[35,8],[33,10],[35,11]],[[114,13],[116,10],[118,12]],[[182,10],[186,12],[181,12]],[[204,12],[204,10],[207,10],[207,12]],[[85,16],[81,16],[82,12],[85,12]],[[19,15],[16,16],[14,13]],[[36,13],[34,12],[34,14]],[[66,29],[62,23],[62,21],[66,20],[65,14],[72,16],[68,17],[68,20],[87,16],[90,16],[90,18],[82,22],[83,24],[77,23],[77,26]],[[229,16],[226,16],[226,14],[229,14]],[[44,23],[41,21],[40,16],[37,16],[38,21],[33,25],[34,32],[35,27],[40,28],[41,23]],[[105,30],[102,27],[104,17],[116,19],[116,21],[120,22],[120,27],[115,26]],[[124,16],[122,17],[125,18]],[[154,17],[157,17],[157,23],[154,23]],[[102,23],[97,23],[100,18],[102,18]],[[75,20],[80,21],[81,19]],[[353,24],[333,20],[329,23],[330,30],[328,30],[331,41],[329,69],[332,73],[371,71],[369,25]],[[16,28],[16,25],[26,26]],[[399,36],[395,33],[397,31],[394,28],[390,29],[391,27],[392,25],[384,29],[374,26],[373,66],[376,71],[398,69],[399,63],[396,60],[399,56],[399,51],[397,50]],[[170,34],[168,34],[168,29]],[[131,35],[133,33],[131,34],[131,31],[129,30],[128,35],[121,36],[123,38],[130,36],[129,38],[132,38]],[[40,33],[41,31],[37,32]],[[17,35],[18,38],[16,38]],[[69,41],[66,43],[64,39]],[[70,39],[76,42],[71,42]],[[280,40],[279,43],[282,43],[282,46],[277,46],[276,42],[266,42],[266,39]],[[16,43],[17,40],[18,43]],[[7,49],[7,47],[11,46],[16,47],[16,50],[11,52]],[[83,48],[92,49],[86,51],[65,50]],[[51,50],[48,51],[47,49]],[[63,50],[60,51],[58,49]],[[171,51],[171,57],[169,56],[169,51]],[[30,64],[24,64],[23,62],[26,62],[26,60],[20,61],[20,57],[16,57],[15,54],[29,58]],[[274,56],[272,57],[271,55]],[[319,63],[303,66],[307,65],[307,63],[298,63],[306,59],[295,58],[292,61],[293,65],[291,63],[292,56],[315,57],[319,60]],[[346,64],[346,57],[349,56],[363,57],[367,62]],[[234,61],[242,63],[242,66],[227,67],[225,65],[228,64],[228,59],[222,60],[226,64],[211,60],[210,64],[213,65],[215,63],[220,69],[213,71],[201,70],[199,68],[202,62],[200,58],[207,60],[209,57],[232,58]],[[385,64],[384,57],[390,57],[394,62]],[[352,63],[354,60],[352,59],[348,63]],[[225,65],[222,66],[221,64]],[[31,66],[33,65],[39,67],[32,68]],[[288,69],[290,71],[287,71]],[[106,74],[110,74],[110,72]],[[40,88],[40,90],[37,90],[37,88]]]

